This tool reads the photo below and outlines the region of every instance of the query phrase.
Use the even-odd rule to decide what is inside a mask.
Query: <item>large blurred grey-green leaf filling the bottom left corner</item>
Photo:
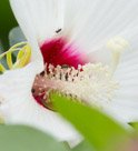
[[[0,151],[68,151],[68,149],[37,129],[0,125]]]

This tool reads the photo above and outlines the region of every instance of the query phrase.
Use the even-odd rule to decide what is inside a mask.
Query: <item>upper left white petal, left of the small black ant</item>
[[[63,26],[63,0],[10,0],[28,40],[39,43]],[[20,8],[20,9],[19,9]]]

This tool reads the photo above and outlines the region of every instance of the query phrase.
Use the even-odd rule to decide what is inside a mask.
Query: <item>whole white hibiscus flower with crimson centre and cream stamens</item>
[[[138,119],[137,1],[10,2],[31,54],[0,77],[6,123],[30,124],[60,141],[76,140],[78,133],[52,108],[52,91],[102,105],[122,122]],[[121,53],[126,40],[129,48]]]

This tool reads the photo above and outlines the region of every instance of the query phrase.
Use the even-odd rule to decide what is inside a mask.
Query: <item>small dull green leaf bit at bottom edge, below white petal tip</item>
[[[87,141],[82,141],[80,144],[75,147],[72,151],[96,151],[92,149],[92,147]]]

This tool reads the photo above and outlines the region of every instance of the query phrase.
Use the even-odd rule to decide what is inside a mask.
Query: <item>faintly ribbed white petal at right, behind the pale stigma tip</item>
[[[138,29],[121,34],[129,41],[129,48],[121,54],[114,79],[120,82],[117,97],[105,110],[126,122],[138,121]]]

